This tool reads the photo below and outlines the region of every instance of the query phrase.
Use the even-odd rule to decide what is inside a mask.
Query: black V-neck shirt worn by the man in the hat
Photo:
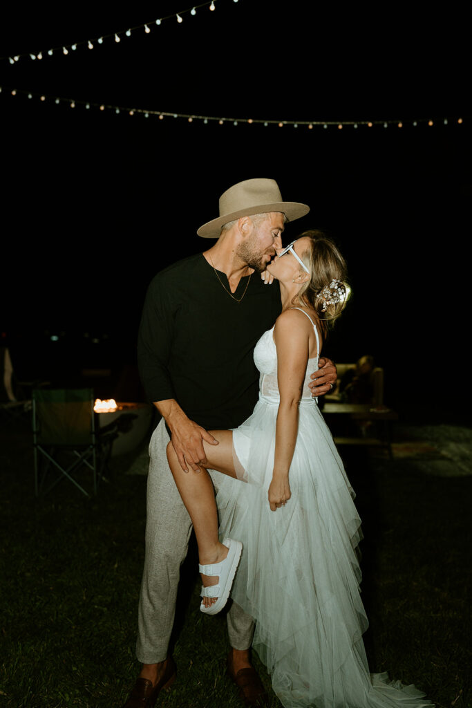
[[[218,274],[218,275],[217,275]],[[219,278],[218,278],[219,276]],[[221,280],[221,282],[219,281]],[[206,429],[235,428],[253,412],[253,348],[280,314],[277,282],[258,273],[229,282],[202,253],[161,270],[149,285],[138,337],[139,375],[150,401],[175,399]]]

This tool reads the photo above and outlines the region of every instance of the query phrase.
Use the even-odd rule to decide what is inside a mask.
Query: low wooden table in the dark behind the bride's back
[[[330,416],[349,416],[352,421],[371,421],[376,435],[334,435],[336,445],[367,445],[369,447],[386,447],[389,457],[393,457],[391,449],[391,423],[398,421],[398,413],[386,406],[372,407],[370,404],[329,403],[321,409],[326,422],[330,423]],[[334,421],[333,421],[334,422]],[[360,427],[360,426],[359,426]]]

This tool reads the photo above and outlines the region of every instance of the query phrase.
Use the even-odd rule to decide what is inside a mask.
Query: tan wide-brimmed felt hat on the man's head
[[[221,228],[234,219],[265,212],[283,212],[288,221],[308,214],[310,207],[299,202],[282,202],[277,182],[273,179],[246,179],[233,185],[219,198],[219,217],[198,229],[203,239],[218,239]]]

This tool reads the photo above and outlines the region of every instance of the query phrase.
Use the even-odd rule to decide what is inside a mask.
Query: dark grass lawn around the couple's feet
[[[372,671],[415,683],[439,708],[472,705],[472,476],[429,476],[413,459],[341,450],[363,519],[364,637]],[[119,708],[134,657],[146,477],[113,459],[87,499],[69,482],[33,493],[26,426],[0,432],[0,708]],[[195,548],[182,569],[168,708],[241,706],[225,675],[224,615],[198,611]],[[255,656],[267,688],[270,680]],[[280,706],[271,692],[272,706]]]

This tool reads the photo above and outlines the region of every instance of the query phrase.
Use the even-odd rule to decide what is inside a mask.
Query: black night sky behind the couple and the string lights
[[[352,301],[326,354],[372,353],[403,416],[470,420],[465,17],[454,6],[215,4],[160,27],[157,17],[191,3],[1,11],[2,57],[122,37],[0,61],[0,328],[18,377],[110,367],[115,379],[128,372],[128,394],[139,395],[132,372],[149,281],[212,244],[196,229],[217,217],[226,188],[270,177],[284,199],[311,205],[287,242],[326,229],[347,258]],[[121,33],[148,21],[149,35]],[[116,106],[241,120],[159,120]],[[248,118],[380,122],[309,130]]]

